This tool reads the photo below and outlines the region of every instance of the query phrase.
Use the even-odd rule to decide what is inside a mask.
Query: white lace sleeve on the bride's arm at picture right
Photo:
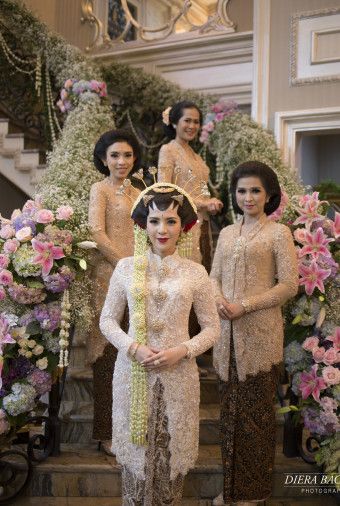
[[[214,301],[214,294],[209,276],[204,267],[195,273],[195,292],[193,306],[201,332],[183,344],[188,348],[190,356],[197,357],[211,348],[220,335],[220,320]]]

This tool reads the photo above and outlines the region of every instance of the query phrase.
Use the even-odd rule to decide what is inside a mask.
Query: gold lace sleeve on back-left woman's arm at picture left
[[[105,211],[105,192],[98,183],[95,183],[92,185],[90,190],[89,203],[89,226],[91,236],[97,243],[99,251],[109,262],[112,263],[112,265],[115,266],[119,260],[119,256],[115,251],[114,245],[106,234]]]

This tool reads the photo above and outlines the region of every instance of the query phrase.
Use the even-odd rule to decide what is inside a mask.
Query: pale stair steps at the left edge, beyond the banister
[[[9,120],[0,118],[0,172],[29,197],[40,181],[46,165],[37,148],[27,148],[23,133],[9,133]]]

